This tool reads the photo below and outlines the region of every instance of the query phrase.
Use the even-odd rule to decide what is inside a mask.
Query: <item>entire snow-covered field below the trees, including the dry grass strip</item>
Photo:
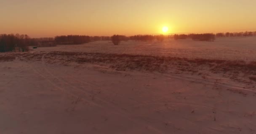
[[[255,134],[256,37],[0,54],[1,134]]]

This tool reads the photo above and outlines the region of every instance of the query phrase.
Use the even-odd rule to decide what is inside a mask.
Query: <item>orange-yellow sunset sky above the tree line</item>
[[[0,0],[0,34],[31,37],[80,34],[256,31],[256,0]]]

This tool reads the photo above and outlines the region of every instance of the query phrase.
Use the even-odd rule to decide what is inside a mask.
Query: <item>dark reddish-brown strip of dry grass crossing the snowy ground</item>
[[[8,56],[0,56],[0,61],[11,61],[18,57],[21,60],[40,61],[42,58],[48,63],[69,64],[104,64],[115,70],[138,70],[149,72],[191,72],[198,73],[206,71],[212,73],[245,74],[251,76],[256,74],[256,62],[220,60],[220,59],[188,59],[180,57],[158,57],[148,55],[132,54],[104,54],[83,52],[35,52],[35,53],[11,53]],[[235,78],[235,77],[234,77]],[[255,77],[250,77],[256,81]]]

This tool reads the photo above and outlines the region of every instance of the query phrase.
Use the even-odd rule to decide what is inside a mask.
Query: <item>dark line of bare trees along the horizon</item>
[[[84,44],[90,41],[109,41],[118,45],[121,41],[163,41],[165,39],[192,39],[195,41],[214,41],[216,37],[240,37],[256,36],[256,31],[227,32],[227,33],[203,33],[203,34],[174,34],[174,35],[134,35],[134,36],[84,36],[67,35],[56,36],[55,38],[33,38],[26,34],[0,34],[0,52],[28,51],[28,46],[56,46],[56,44]]]

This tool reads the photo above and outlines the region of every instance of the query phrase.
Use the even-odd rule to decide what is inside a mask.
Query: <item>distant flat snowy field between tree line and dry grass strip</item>
[[[114,46],[111,41],[96,41],[83,45],[45,47],[35,51],[99,52],[256,61],[256,37],[217,38],[214,42],[191,39],[163,42],[122,41],[119,46]]]

